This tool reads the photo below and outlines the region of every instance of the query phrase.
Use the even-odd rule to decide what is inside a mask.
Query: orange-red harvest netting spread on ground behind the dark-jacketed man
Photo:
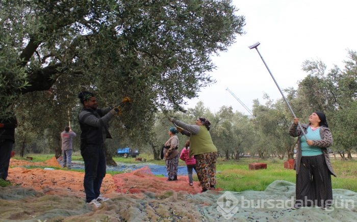
[[[84,173],[68,170],[54,169],[26,169],[20,166],[37,165],[48,167],[61,167],[55,157],[45,162],[32,162],[27,160],[10,160],[8,179],[16,185],[32,187],[45,192],[82,192],[84,195]],[[14,167],[18,166],[18,167]],[[122,173],[111,176],[107,174],[101,186],[103,194],[116,193],[141,193],[163,192],[167,190],[187,191],[195,194],[201,191],[198,181],[189,186],[188,176],[178,176],[176,181],[167,181],[165,177],[152,174],[146,165],[130,173]],[[216,190],[221,190],[217,188]]]

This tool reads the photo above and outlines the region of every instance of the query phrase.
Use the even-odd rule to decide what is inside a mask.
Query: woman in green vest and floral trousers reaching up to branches
[[[190,136],[190,154],[196,159],[196,173],[202,192],[216,185],[217,148],[209,132],[211,123],[206,118],[198,118],[194,125],[189,125],[172,117],[168,118],[182,134]],[[181,128],[180,128],[181,127]]]

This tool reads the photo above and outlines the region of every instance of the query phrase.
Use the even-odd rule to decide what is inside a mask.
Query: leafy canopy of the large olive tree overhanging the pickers
[[[131,96],[138,105],[128,115],[137,119],[151,118],[157,102],[182,109],[214,82],[211,54],[243,34],[236,12],[223,0],[4,0],[0,113],[60,77],[70,97],[85,89],[109,103]]]

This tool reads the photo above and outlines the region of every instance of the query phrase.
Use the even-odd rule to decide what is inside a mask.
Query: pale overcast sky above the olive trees
[[[248,115],[226,88],[249,109],[254,99],[264,103],[264,93],[274,100],[282,98],[257,50],[248,48],[257,42],[282,90],[296,89],[297,82],[307,75],[301,70],[305,60],[321,60],[327,70],[334,65],[343,69],[347,49],[357,50],[357,1],[234,0],[233,4],[238,14],[245,16],[246,34],[237,36],[227,52],[213,58],[217,69],[210,75],[216,84],[203,88],[186,107],[202,101],[212,112],[232,105],[235,111]]]

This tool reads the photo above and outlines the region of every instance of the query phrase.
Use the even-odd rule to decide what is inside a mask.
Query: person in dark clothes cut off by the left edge
[[[0,179],[8,177],[12,146],[15,143],[16,117],[0,119]]]

